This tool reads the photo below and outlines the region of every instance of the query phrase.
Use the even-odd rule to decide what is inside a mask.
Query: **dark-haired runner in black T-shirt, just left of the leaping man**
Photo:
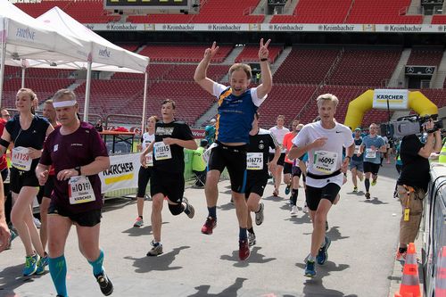
[[[141,154],[141,164],[145,166],[145,155],[153,154],[153,176],[150,180],[152,195],[152,229],[153,248],[147,256],[158,256],[162,253],[161,244],[161,210],[164,197],[168,197],[169,210],[174,216],[185,212],[194,218],[194,207],[183,201],[185,193],[185,156],[184,149],[196,150],[191,129],[185,122],[174,119],[175,102],[165,100],[161,105],[162,121],[155,126],[155,141]]]

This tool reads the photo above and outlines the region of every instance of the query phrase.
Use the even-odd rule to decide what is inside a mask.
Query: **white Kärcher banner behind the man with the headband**
[[[139,156],[139,153],[110,156],[110,168],[99,173],[102,193],[136,188],[138,186],[138,171],[141,167]]]

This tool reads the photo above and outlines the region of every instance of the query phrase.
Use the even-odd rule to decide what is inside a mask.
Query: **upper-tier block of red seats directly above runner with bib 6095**
[[[275,15],[271,23],[342,24],[351,0],[300,0],[293,15]]]

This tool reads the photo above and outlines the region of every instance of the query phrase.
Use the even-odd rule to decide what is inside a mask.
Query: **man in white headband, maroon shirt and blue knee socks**
[[[99,248],[103,199],[98,173],[110,167],[110,158],[95,127],[78,120],[78,103],[72,91],[59,90],[54,95],[53,105],[62,126],[46,138],[36,169],[40,185],[45,185],[51,165],[56,175],[48,210],[51,277],[57,295],[68,296],[63,252],[74,224],[79,250],[93,267],[93,275],[107,296],[113,292],[113,285],[103,271],[103,250]]]

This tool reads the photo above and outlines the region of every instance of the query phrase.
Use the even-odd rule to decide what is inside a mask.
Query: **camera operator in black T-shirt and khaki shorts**
[[[401,202],[402,216],[400,222],[400,247],[396,260],[404,261],[408,244],[417,237],[421,216],[423,214],[423,199],[430,180],[429,156],[442,149],[440,129],[433,120],[423,125],[427,133],[425,144],[412,134],[404,136],[401,141],[401,174],[397,181],[397,191]]]

